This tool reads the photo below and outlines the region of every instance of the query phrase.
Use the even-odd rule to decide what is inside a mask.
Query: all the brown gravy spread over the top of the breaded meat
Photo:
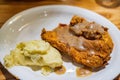
[[[73,46],[77,50],[88,51],[90,54],[95,54],[96,51],[89,42],[100,38],[105,30],[107,29],[94,22],[79,23],[74,26],[62,26],[62,24],[60,24],[59,27],[54,29],[61,42]]]

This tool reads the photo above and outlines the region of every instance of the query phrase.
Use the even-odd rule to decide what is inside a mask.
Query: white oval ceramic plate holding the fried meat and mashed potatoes
[[[79,15],[89,21],[95,21],[109,28],[109,33],[114,42],[114,49],[111,60],[106,68],[93,73],[87,77],[76,77],[75,66],[72,63],[65,63],[67,72],[64,75],[43,76],[40,71],[32,71],[28,67],[15,66],[8,69],[12,74],[21,80],[112,80],[120,73],[120,33],[119,30],[106,18],[89,10],[66,6],[50,5],[40,6],[25,10],[10,18],[0,29],[0,61],[15,48],[21,41],[40,39],[42,28],[51,30],[59,23],[69,24],[73,15]]]

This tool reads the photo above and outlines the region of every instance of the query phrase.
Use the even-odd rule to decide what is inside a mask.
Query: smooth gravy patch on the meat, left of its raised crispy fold
[[[83,46],[84,40],[82,37],[78,38],[77,36],[74,36],[69,32],[69,26],[64,26],[64,27],[58,27],[54,30],[57,35],[58,39],[63,42],[68,44],[69,46],[73,46],[76,49],[79,50],[85,50],[85,47]]]

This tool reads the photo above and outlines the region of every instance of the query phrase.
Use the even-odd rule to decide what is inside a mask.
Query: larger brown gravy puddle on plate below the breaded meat
[[[77,77],[85,77],[85,76],[89,76],[91,74],[92,74],[92,72],[89,69],[81,68],[81,67],[76,68],[76,76]]]

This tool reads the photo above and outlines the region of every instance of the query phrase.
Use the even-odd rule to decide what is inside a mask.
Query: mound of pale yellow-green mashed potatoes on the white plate
[[[17,44],[10,55],[5,56],[6,67],[16,65],[40,66],[43,74],[48,74],[52,69],[62,66],[62,58],[58,50],[43,40],[32,40]]]

